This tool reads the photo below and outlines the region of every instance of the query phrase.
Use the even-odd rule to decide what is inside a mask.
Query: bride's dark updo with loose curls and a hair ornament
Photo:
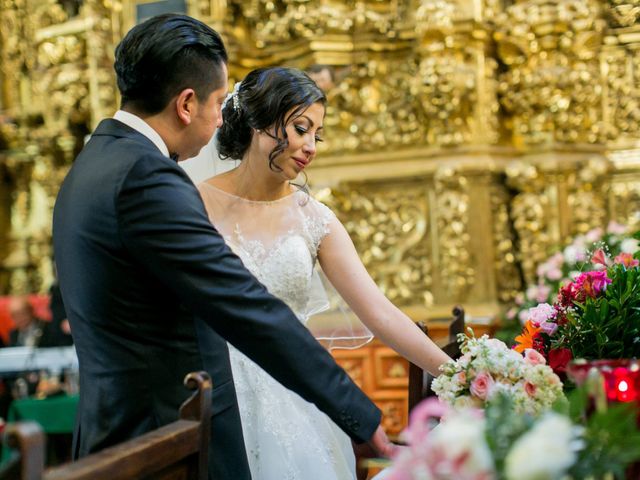
[[[287,67],[253,70],[234,95],[237,98],[230,98],[222,110],[224,122],[217,136],[220,158],[241,160],[251,144],[252,129],[262,130],[277,142],[269,154],[272,170],[279,170],[273,161],[289,145],[287,124],[314,103],[325,105],[327,101],[304,72]],[[275,135],[269,132],[271,128]]]

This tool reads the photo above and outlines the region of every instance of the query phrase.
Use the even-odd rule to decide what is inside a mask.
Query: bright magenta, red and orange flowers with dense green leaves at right
[[[629,252],[612,257],[597,249],[589,265],[559,287],[553,303],[530,308],[515,338],[516,351],[535,350],[559,374],[572,358],[640,356],[640,261]]]

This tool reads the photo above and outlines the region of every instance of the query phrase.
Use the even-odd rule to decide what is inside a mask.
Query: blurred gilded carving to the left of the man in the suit
[[[12,120],[3,122],[4,131],[15,130],[9,145],[15,150],[6,163],[15,201],[3,261],[9,283],[0,288],[32,292],[51,284],[55,195],[84,136],[115,110],[112,26],[119,5],[108,0],[87,0],[77,10],[54,0],[2,5],[0,16],[10,26],[2,30],[3,79],[18,95],[6,102]],[[23,35],[28,42],[16,41]]]

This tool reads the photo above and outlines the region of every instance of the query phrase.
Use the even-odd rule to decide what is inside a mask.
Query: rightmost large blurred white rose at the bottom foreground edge
[[[581,448],[579,435],[580,431],[567,417],[547,413],[509,451],[505,460],[507,480],[563,478],[577,459],[576,451]]]

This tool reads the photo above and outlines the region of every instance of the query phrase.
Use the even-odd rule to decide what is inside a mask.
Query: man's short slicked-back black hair
[[[224,83],[220,35],[195,18],[165,14],[133,27],[116,47],[122,106],[153,115],[185,88],[206,100]]]

